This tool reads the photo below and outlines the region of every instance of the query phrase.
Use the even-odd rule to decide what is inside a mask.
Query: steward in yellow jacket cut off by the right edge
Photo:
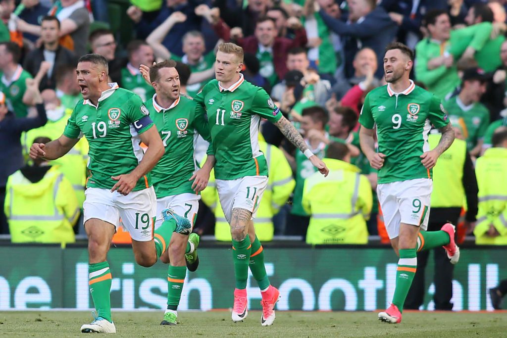
[[[479,212],[474,230],[478,245],[507,244],[507,129],[491,138],[493,147],[477,159]]]

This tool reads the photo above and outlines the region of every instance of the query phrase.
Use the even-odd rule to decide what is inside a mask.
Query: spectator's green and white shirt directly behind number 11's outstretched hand
[[[325,150],[327,146],[325,143],[319,144],[316,149],[312,149],[308,141],[306,142],[310,150],[313,154],[315,154],[319,159],[323,159],[325,155]],[[317,168],[313,166],[313,164],[306,158],[306,156],[301,153],[299,149],[296,149],[296,186],[294,187],[294,196],[292,198],[292,209],[291,213],[293,215],[299,216],[309,216],[305,210],[303,209],[302,199],[303,199],[303,188],[305,185],[305,179],[313,175]]]

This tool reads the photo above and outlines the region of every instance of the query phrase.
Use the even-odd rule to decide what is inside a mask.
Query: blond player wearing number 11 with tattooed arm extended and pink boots
[[[231,226],[236,279],[232,320],[242,321],[248,314],[246,281],[250,268],[261,289],[261,324],[267,326],[275,319],[273,308],[279,292],[269,282],[263,248],[253,226],[268,182],[266,158],[258,143],[261,118],[274,123],[322,174],[327,175],[329,169],[312,154],[266,91],[244,80],[242,67],[243,49],[233,43],[220,44],[215,58],[216,79],[203,87],[195,101],[197,111],[208,117],[216,190]]]

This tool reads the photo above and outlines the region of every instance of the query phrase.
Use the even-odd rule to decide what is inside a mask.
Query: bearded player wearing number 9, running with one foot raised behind
[[[459,260],[454,226],[427,232],[432,191],[431,168],[454,141],[454,130],[440,99],[409,79],[414,52],[401,43],[386,47],[386,86],[365,98],[359,123],[360,145],[373,168],[378,169],[377,195],[391,245],[400,257],[392,304],[378,318],[402,321],[403,304],[414,279],[417,252],[443,246],[452,264]],[[442,133],[439,144],[429,149],[431,125]],[[378,152],[373,139],[377,129]]]

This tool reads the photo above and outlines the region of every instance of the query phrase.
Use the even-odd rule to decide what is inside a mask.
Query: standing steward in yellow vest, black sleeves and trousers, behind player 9
[[[433,191],[431,193],[430,213],[427,231],[439,231],[442,226],[451,222],[455,225],[462,208],[467,206],[465,222],[475,222],[477,214],[477,180],[474,164],[466,150],[466,141],[462,137],[459,127],[454,125],[456,138],[451,146],[440,155],[437,164],[433,167]],[[428,136],[429,148],[434,149],[440,141],[440,133],[431,133]],[[420,246],[422,249],[423,245]],[[429,253],[433,251],[435,292],[433,302],[437,310],[452,310],[452,278],[454,265],[451,264],[444,248],[424,250],[417,253],[417,271],[412,281],[405,309],[419,309],[424,301],[427,290],[424,270]]]

